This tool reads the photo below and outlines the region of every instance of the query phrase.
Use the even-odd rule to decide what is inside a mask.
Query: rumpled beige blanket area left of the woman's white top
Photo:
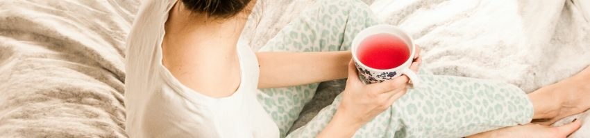
[[[138,6],[0,1],[0,137],[126,137],[124,43]]]

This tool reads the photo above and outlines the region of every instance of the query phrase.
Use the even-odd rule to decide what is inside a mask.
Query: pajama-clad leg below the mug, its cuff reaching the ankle
[[[465,137],[528,124],[532,103],[520,88],[465,77],[421,75],[423,87],[398,99],[389,110],[357,130],[355,137]],[[340,98],[289,137],[317,135],[334,115]]]

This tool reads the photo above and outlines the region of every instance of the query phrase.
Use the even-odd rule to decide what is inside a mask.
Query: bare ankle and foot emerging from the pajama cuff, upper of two
[[[544,110],[541,117],[534,119],[535,124],[550,125],[559,121],[564,117],[575,115],[584,112],[590,108],[590,67],[585,68],[573,77],[569,77],[550,86],[543,87],[535,92],[532,92],[530,97],[544,97],[538,98],[537,103],[539,108],[542,106],[550,107],[550,110]],[[548,105],[548,100],[557,101],[560,104]],[[537,107],[535,107],[537,109]],[[537,112],[535,112],[537,113]]]

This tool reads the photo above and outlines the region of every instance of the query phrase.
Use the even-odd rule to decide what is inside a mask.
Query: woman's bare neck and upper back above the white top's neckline
[[[214,19],[176,3],[165,23],[162,63],[193,90],[210,97],[232,95],[241,83],[236,45],[246,19],[243,14]]]

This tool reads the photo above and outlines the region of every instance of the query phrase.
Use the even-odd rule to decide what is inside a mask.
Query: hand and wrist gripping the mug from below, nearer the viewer
[[[402,75],[382,83],[366,85],[358,78],[355,64],[351,61],[348,63],[348,80],[342,92],[342,101],[318,137],[352,137],[358,128],[402,97],[407,92],[408,81],[409,78]]]

